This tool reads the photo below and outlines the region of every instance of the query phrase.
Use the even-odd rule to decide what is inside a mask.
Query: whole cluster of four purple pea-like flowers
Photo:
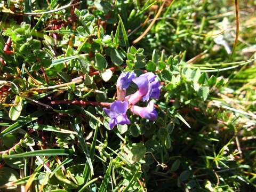
[[[126,89],[131,82],[137,84],[138,90],[126,96]],[[110,109],[103,108],[105,113],[111,118],[109,122],[110,129],[117,124],[130,124],[130,120],[126,115],[128,109],[135,115],[149,120],[157,119],[157,111],[154,107],[154,101],[150,98],[158,99],[160,95],[161,86],[153,73],[146,73],[135,77],[133,72],[122,73],[116,83],[117,100],[110,105]],[[139,101],[148,102],[147,107],[140,107],[135,105]]]

